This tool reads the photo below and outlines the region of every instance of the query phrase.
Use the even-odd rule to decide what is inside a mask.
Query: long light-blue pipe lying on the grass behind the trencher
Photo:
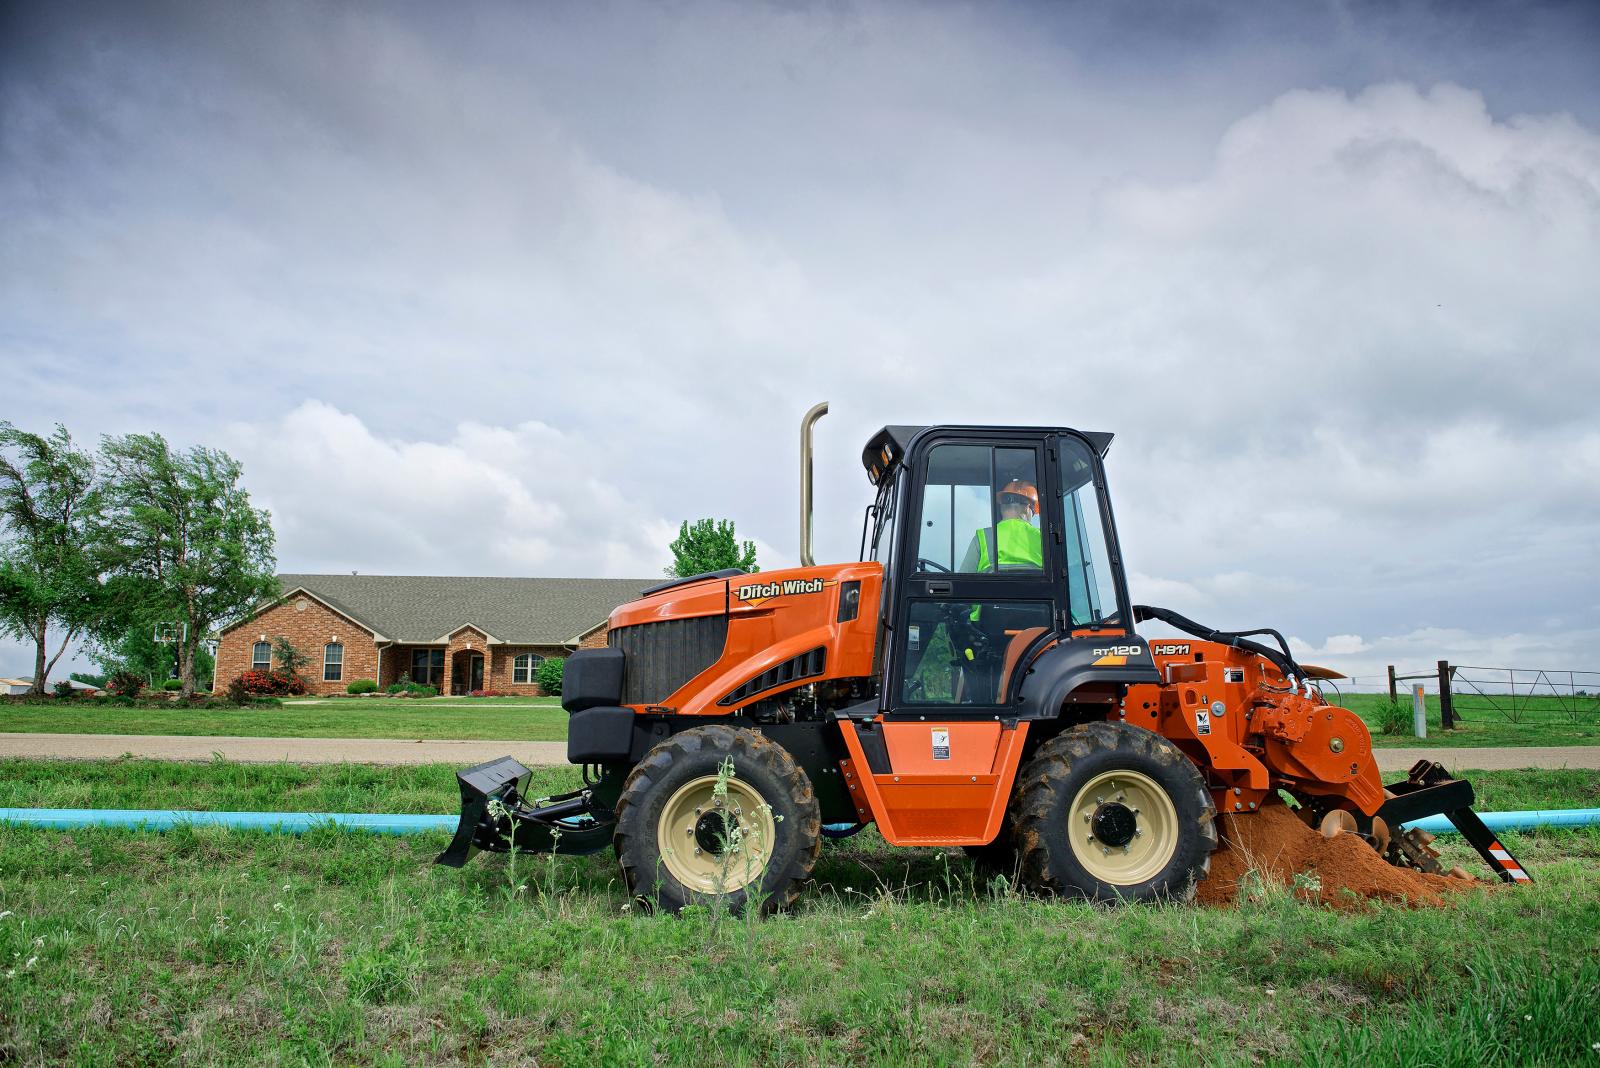
[[[1587,827],[1600,823],[1600,809],[1542,809],[1530,812],[1482,812],[1493,831],[1525,831],[1534,827]],[[131,827],[168,831],[176,827],[230,827],[234,830],[283,831],[302,835],[320,827],[338,827],[370,835],[421,835],[454,831],[456,815],[405,815],[395,812],[192,812],[184,809],[0,809],[0,823],[22,827]],[[1445,815],[1430,815],[1405,827],[1432,835],[1453,835],[1456,825]],[[830,825],[832,828],[832,825]],[[840,825],[835,833],[858,828]]]

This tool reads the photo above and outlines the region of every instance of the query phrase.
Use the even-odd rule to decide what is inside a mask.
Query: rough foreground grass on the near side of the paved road
[[[1600,798],[1600,772],[1474,779],[1485,807]],[[0,764],[8,806],[453,793],[448,767]],[[1600,833],[1517,836],[1534,886],[1416,911],[1027,900],[869,835],[742,921],[640,915],[605,855],[435,868],[443,835],[0,828],[0,1060],[1600,1062]]]

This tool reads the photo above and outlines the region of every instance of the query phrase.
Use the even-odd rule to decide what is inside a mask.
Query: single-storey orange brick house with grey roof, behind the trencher
[[[216,686],[272,667],[286,636],[314,694],[410,676],[442,694],[538,695],[538,665],[603,646],[611,609],[659,579],[477,579],[283,574],[283,595],[218,635]]]

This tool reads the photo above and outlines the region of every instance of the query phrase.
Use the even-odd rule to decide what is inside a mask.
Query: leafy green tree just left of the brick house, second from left
[[[178,627],[184,695],[195,689],[195,651],[219,622],[277,593],[272,521],[251,507],[227,452],[168,448],[158,433],[101,443],[99,518],[130,619]]]

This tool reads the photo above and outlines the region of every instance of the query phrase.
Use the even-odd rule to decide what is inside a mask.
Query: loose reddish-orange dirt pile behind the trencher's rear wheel
[[[1366,900],[1443,905],[1446,894],[1482,886],[1395,868],[1355,835],[1323,838],[1285,804],[1267,804],[1248,815],[1219,815],[1218,833],[1211,875],[1197,894],[1202,905],[1232,905],[1251,870],[1270,886],[1293,886],[1301,900],[1334,908]]]

